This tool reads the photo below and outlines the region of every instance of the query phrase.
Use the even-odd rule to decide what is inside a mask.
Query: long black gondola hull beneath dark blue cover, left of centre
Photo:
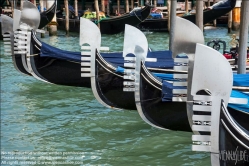
[[[68,60],[41,57],[35,34],[31,38],[31,67],[41,79],[59,85],[91,87],[89,77],[81,77],[81,64]]]

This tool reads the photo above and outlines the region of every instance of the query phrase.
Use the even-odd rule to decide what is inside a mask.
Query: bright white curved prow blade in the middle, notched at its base
[[[148,42],[146,36],[139,29],[125,24],[123,57],[125,57],[129,53],[135,55],[136,46],[139,46],[144,50],[143,54],[141,55],[145,59],[148,52]]]

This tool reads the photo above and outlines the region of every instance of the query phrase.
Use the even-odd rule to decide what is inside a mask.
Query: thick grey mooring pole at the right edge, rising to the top
[[[242,1],[239,33],[238,74],[246,73],[247,42],[249,26],[249,1]]]

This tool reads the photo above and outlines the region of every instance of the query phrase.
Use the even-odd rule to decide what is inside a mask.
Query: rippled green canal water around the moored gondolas
[[[168,49],[168,33],[145,34],[152,50]],[[205,30],[206,41],[217,37],[229,41],[231,34],[226,28]],[[42,40],[80,51],[76,33],[66,37],[59,31]],[[209,153],[191,151],[191,133],[153,128],[134,110],[105,108],[91,89],[20,74],[0,44],[1,161],[7,165],[210,165]],[[123,34],[102,36],[102,46],[112,51],[122,51],[122,45]]]

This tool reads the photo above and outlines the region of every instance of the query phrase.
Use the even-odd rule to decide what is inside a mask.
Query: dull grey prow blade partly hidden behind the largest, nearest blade
[[[194,54],[196,43],[204,44],[204,36],[199,27],[186,19],[176,17],[175,38],[171,50],[173,58],[181,53]]]

